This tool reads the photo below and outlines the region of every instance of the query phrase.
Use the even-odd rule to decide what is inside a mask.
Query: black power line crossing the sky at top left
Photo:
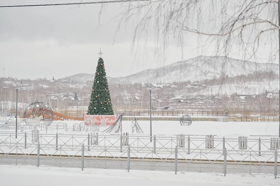
[[[81,2],[81,3],[14,5],[14,6],[0,6],[0,8],[3,8],[3,7],[25,7],[25,6],[57,6],[57,5],[81,5],[81,4],[101,4],[101,3],[124,3],[124,2],[135,2],[135,1],[150,1],[150,0],[115,0],[115,1]]]

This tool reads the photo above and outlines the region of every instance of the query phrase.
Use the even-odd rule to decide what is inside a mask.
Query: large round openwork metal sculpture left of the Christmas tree
[[[25,109],[23,117],[29,119],[41,117],[40,121],[43,121],[46,125],[50,125],[53,122],[53,110],[46,103],[34,102],[29,104]]]

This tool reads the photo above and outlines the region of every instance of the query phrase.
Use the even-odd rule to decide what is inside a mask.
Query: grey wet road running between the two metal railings
[[[0,164],[20,164],[20,165],[37,165],[37,157],[0,157]],[[58,167],[75,167],[81,168],[81,157],[46,157],[40,156],[40,166],[58,166]],[[174,171],[174,162],[152,162],[149,161],[130,161],[130,169],[136,170],[158,170],[158,171]],[[222,164],[209,163],[179,163],[177,164],[178,172],[211,172],[223,173]],[[94,158],[85,158],[84,169],[100,168],[100,169],[127,169],[127,159],[120,161],[114,158],[101,158],[96,160]],[[280,166],[278,166],[278,173],[280,173]],[[263,165],[234,165],[227,164],[227,173],[243,173],[243,174],[274,174],[274,166]]]

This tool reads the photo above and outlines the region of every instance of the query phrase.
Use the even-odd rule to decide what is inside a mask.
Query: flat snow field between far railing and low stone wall
[[[81,121],[65,121],[68,128]],[[150,134],[150,121],[138,121],[144,134]],[[122,121],[122,132],[131,134],[131,121]],[[108,126],[109,127],[109,126]],[[99,131],[106,127],[100,127]],[[153,135],[217,135],[217,137],[238,136],[278,136],[279,122],[217,122],[193,121],[190,126],[182,126],[180,121],[152,121]],[[63,131],[60,130],[59,133]],[[66,132],[68,133],[68,132]],[[78,132],[79,134],[88,132]],[[136,132],[134,132],[136,134]]]

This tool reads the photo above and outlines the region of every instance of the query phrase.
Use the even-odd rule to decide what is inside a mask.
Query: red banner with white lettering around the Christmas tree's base
[[[85,115],[86,125],[113,125],[117,120],[117,115]]]

